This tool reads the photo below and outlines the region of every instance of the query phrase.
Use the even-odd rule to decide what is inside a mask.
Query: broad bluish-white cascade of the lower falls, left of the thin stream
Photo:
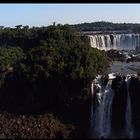
[[[104,87],[101,86],[98,94],[99,106],[95,110],[94,115],[94,132],[97,137],[107,138],[111,133],[111,106],[114,92],[111,88],[112,80],[109,80]]]

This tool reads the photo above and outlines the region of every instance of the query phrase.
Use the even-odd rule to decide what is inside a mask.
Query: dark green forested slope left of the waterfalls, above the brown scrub
[[[88,121],[91,82],[108,66],[104,51],[69,25],[1,28],[0,45],[1,109]]]

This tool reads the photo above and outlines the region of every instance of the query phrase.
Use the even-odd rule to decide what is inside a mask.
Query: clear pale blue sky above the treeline
[[[0,26],[49,26],[96,21],[140,23],[140,4],[0,4]]]

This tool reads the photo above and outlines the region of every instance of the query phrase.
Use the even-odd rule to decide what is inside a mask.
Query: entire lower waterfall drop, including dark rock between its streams
[[[130,75],[112,76],[108,80],[98,76],[93,81],[91,86],[92,138],[133,138],[137,130],[139,134],[140,126],[137,126],[140,122],[139,116],[133,114],[135,110],[139,113],[139,107],[134,106],[137,101],[133,102],[138,97],[131,90],[137,82],[138,79]]]

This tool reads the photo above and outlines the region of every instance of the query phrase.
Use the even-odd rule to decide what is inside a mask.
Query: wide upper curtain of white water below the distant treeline
[[[100,50],[135,49],[140,46],[139,34],[98,34],[88,35],[90,45]]]

